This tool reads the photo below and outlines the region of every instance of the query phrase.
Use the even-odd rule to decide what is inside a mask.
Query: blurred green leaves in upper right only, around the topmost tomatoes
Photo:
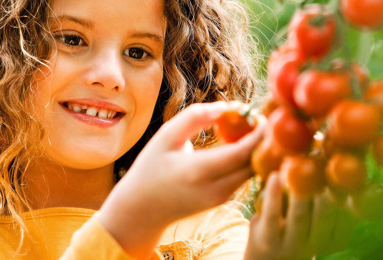
[[[265,57],[264,66],[272,50],[286,41],[288,22],[295,10],[302,5],[328,4],[339,14],[338,0],[242,0],[242,2],[248,6],[251,30],[257,39],[258,51]],[[345,26],[341,28],[341,32],[344,35],[343,48],[348,49],[349,58],[366,66],[371,79],[383,79],[383,29],[361,31]],[[332,56],[339,56],[340,51],[342,50],[332,53]]]

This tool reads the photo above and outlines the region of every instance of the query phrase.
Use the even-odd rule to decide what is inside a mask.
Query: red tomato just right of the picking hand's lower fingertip
[[[285,107],[279,107],[270,115],[269,127],[272,138],[286,150],[307,150],[313,139],[306,123]]]

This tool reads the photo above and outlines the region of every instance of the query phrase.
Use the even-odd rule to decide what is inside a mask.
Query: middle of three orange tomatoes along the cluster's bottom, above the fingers
[[[280,173],[288,189],[300,198],[314,196],[326,186],[321,164],[308,157],[286,156]]]

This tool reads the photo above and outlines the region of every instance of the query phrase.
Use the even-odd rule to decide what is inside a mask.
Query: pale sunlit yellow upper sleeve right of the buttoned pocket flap
[[[198,260],[243,259],[248,237],[249,221],[242,213],[229,205],[219,207],[206,227]]]

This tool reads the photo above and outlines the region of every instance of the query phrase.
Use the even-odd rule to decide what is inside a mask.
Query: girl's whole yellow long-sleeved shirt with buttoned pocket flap
[[[91,209],[47,208],[26,212],[31,239],[21,254],[13,254],[20,241],[11,216],[0,216],[0,259],[18,260],[125,260],[127,255],[104,229]],[[129,230],[126,230],[129,232]],[[155,249],[156,259],[243,259],[249,222],[229,205],[216,207],[170,225]],[[167,256],[170,255],[170,256]]]

